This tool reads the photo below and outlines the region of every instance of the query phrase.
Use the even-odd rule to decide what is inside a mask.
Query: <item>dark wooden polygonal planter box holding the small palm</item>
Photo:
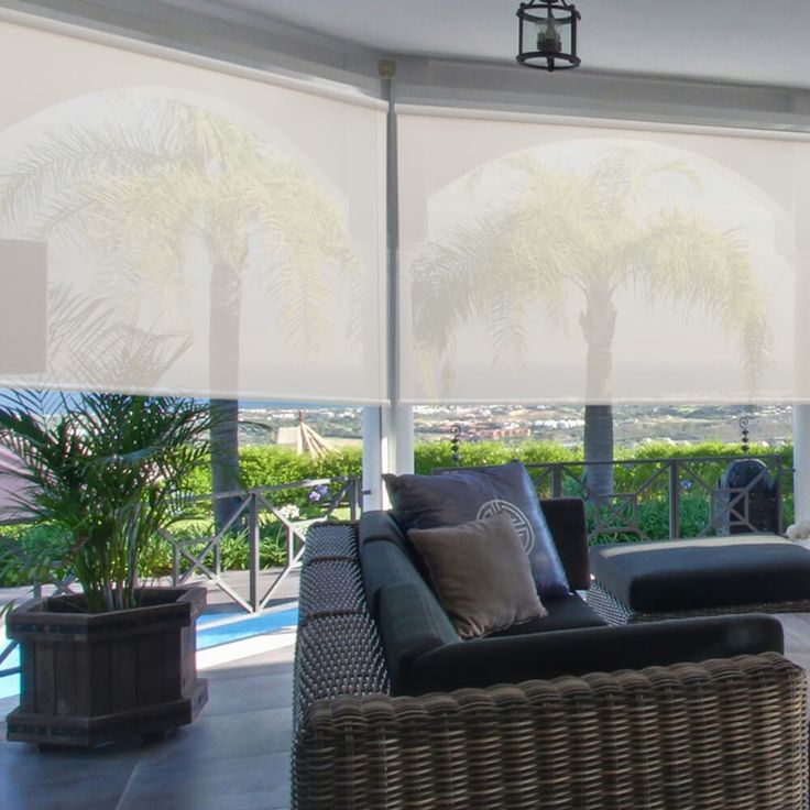
[[[22,694],[8,738],[92,746],[190,723],[208,700],[197,677],[204,588],[143,588],[141,606],[87,614],[83,596],[33,599],[7,617],[20,642]]]

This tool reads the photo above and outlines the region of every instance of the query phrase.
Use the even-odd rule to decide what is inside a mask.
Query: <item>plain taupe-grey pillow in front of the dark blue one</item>
[[[478,638],[548,614],[507,515],[460,526],[414,528],[408,539],[461,638]]]

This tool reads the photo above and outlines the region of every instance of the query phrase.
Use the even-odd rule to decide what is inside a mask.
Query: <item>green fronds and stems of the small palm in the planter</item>
[[[0,446],[19,464],[15,514],[64,538],[90,613],[136,605],[141,556],[188,515],[209,411],[187,397],[18,391],[0,401]],[[47,565],[47,549],[40,549]]]

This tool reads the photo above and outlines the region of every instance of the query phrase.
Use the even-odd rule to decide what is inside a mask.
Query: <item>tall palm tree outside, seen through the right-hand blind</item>
[[[630,286],[643,298],[704,311],[738,347],[753,385],[769,330],[746,244],[699,214],[639,207],[652,178],[664,172],[697,183],[688,166],[627,149],[603,154],[582,172],[528,154],[502,166],[513,183],[508,201],[457,227],[414,263],[414,331],[427,363],[439,360],[450,373],[453,332],[473,318],[483,320],[496,348],[519,350],[530,313],[557,319],[568,296],[579,294],[584,456],[611,461],[613,296]],[[612,492],[611,464],[585,469],[591,494]]]

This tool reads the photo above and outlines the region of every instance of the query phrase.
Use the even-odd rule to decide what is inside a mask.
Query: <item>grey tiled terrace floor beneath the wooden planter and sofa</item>
[[[294,583],[289,583],[293,588]],[[786,652],[810,669],[810,613],[781,614]],[[3,810],[282,810],[289,807],[293,645],[207,668],[209,702],[169,738],[92,752],[0,741]],[[0,714],[17,699],[0,701]]]

